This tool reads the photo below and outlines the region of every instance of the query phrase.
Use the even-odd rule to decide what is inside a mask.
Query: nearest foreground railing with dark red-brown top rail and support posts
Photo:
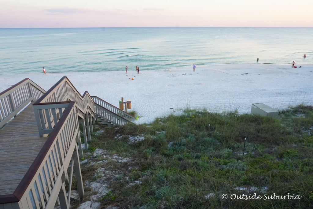
[[[80,140],[76,102],[66,102],[62,105],[64,108],[62,116],[33,164],[12,195],[0,196],[0,204],[11,203],[12,207],[8,208],[53,208],[59,196],[60,203],[69,208],[70,195],[66,196],[65,180],[69,181],[70,194],[73,167],[82,198],[84,188],[79,175],[80,163],[76,146]],[[68,177],[67,168],[71,160],[72,166]]]

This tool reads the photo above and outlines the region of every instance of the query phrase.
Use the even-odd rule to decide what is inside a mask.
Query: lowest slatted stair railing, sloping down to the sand
[[[95,103],[95,115],[100,116],[101,118],[105,118],[108,122],[113,123],[114,125],[125,125],[128,122],[126,118],[121,117],[120,115],[112,112],[101,105]]]

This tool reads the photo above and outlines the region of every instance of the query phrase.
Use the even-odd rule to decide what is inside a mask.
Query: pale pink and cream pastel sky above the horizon
[[[0,0],[0,28],[313,27],[313,0]]]

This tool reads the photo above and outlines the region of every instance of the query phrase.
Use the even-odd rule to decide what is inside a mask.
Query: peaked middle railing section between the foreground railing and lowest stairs
[[[59,108],[64,108],[62,102],[66,101],[76,101],[76,113],[81,118],[85,117],[86,113],[93,116],[95,114],[94,102],[89,93],[85,91],[81,96],[69,79],[64,76],[33,104],[40,136],[52,132],[55,122],[61,117],[62,111]]]

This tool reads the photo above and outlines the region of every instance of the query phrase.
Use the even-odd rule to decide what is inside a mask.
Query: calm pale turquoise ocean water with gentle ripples
[[[313,28],[0,29],[0,74],[313,63]],[[306,54],[306,58],[303,55]]]

